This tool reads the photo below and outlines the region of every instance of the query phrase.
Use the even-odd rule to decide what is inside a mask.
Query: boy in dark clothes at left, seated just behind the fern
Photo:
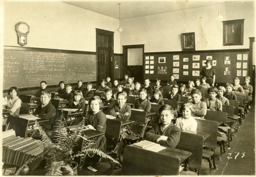
[[[56,113],[55,107],[51,104],[51,94],[49,92],[42,92],[40,101],[41,104],[36,108],[34,115],[36,117],[49,120],[49,122],[45,122],[42,127],[46,132],[51,131]]]

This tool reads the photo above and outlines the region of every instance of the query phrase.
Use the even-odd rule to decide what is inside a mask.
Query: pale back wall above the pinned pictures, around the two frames
[[[244,45],[223,46],[223,20],[244,18]],[[180,34],[195,32],[196,50],[249,48],[249,37],[255,36],[253,1],[219,4],[190,10],[173,11],[121,20],[124,29],[121,45],[145,44],[145,52],[181,51]]]

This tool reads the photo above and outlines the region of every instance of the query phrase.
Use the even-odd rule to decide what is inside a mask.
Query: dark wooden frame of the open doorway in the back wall
[[[142,48],[142,67],[143,67],[143,72],[144,72],[144,46],[143,44],[141,45],[123,45],[123,55],[124,55],[124,62],[123,62],[123,71],[127,71],[127,66],[128,66],[128,59],[127,59],[127,51],[129,48]],[[127,73],[124,73],[127,74]],[[124,78],[124,76],[122,76]],[[144,73],[142,74],[142,79],[144,80]]]

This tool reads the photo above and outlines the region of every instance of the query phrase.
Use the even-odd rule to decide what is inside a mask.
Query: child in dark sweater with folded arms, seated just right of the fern
[[[100,132],[106,132],[106,120],[107,117],[104,115],[102,111],[100,111],[100,105],[102,105],[102,101],[100,97],[93,96],[90,101],[90,110],[88,112],[87,117],[85,118],[84,125],[86,129],[93,129]],[[97,148],[99,150],[106,150],[106,137],[105,135],[99,136],[97,138],[95,145],[92,148]]]

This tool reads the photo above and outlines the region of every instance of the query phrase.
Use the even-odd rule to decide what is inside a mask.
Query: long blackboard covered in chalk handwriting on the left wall
[[[36,87],[40,81],[58,85],[59,81],[96,81],[95,53],[42,48],[4,48],[3,88]]]

